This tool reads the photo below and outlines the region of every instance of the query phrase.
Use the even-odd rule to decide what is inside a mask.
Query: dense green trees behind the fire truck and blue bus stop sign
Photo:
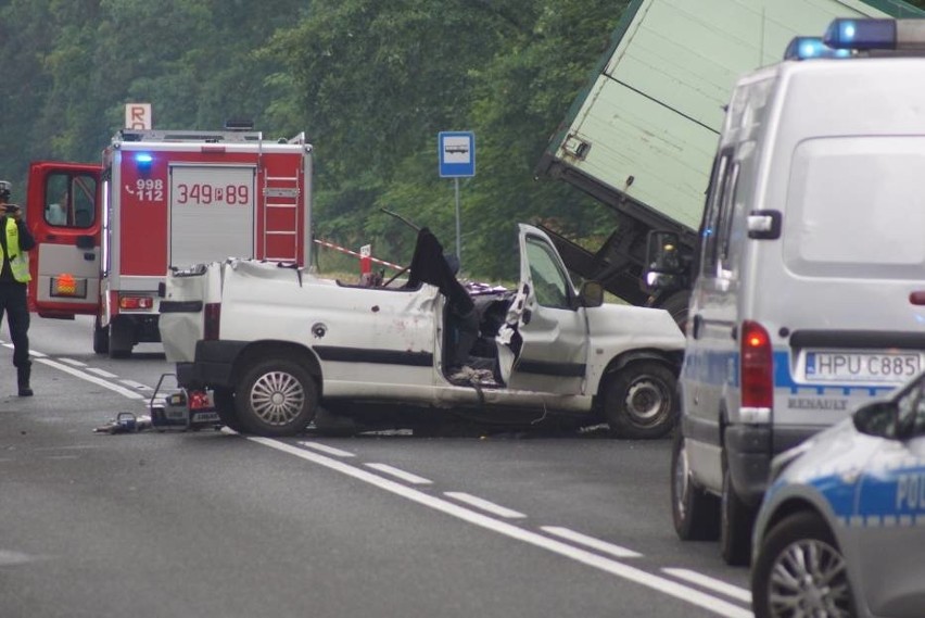
[[[628,3],[5,0],[0,176],[22,199],[29,161],[97,161],[129,102],[152,103],[160,128],[250,117],[315,146],[318,237],[404,264],[415,231],[382,209],[454,252],[454,181],[438,177],[436,135],[472,130],[464,272],[511,279],[517,222],[588,247],[613,228],[609,209],[534,169]],[[330,260],[354,270],[351,257]]]

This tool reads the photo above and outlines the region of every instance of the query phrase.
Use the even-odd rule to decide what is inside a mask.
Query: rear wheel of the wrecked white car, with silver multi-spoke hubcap
[[[315,380],[302,365],[269,360],[253,365],[235,391],[235,409],[244,431],[265,437],[304,430],[318,407]]]

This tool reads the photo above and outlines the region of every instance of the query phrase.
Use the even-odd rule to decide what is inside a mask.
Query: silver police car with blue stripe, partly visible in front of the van
[[[752,545],[759,618],[925,616],[925,373],[778,455]]]

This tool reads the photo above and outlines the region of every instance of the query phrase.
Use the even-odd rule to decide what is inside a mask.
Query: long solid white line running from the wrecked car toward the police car
[[[434,510],[468,521],[474,526],[492,530],[536,547],[542,547],[560,556],[565,556],[590,567],[609,572],[641,585],[645,585],[663,594],[674,596],[681,601],[697,605],[698,607],[704,607],[705,609],[713,611],[720,616],[725,616],[726,618],[753,618],[750,610],[717,596],[704,593],[695,588],[683,585],[673,580],[624,565],[623,563],[605,558],[586,550],[569,545],[561,541],[556,541],[555,539],[549,539],[538,532],[519,528],[518,526],[508,524],[507,521],[494,519],[487,515],[459,506],[458,504],[454,504],[396,481],[373,475],[372,472],[368,472],[356,466],[351,466],[343,462],[325,457],[318,453],[313,453],[305,449],[299,449],[297,446],[286,444],[269,438],[249,437],[245,439],[257,444],[263,444],[270,449],[276,449],[277,451],[294,455],[305,459],[306,462],[318,464],[319,466],[324,466],[343,475],[347,475],[354,479],[378,487],[379,489],[389,491],[413,502],[417,502],[418,504],[428,506]]]

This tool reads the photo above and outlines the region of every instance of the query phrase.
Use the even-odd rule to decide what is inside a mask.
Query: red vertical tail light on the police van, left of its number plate
[[[757,321],[742,323],[743,422],[769,422],[774,405],[774,356],[771,337]]]

